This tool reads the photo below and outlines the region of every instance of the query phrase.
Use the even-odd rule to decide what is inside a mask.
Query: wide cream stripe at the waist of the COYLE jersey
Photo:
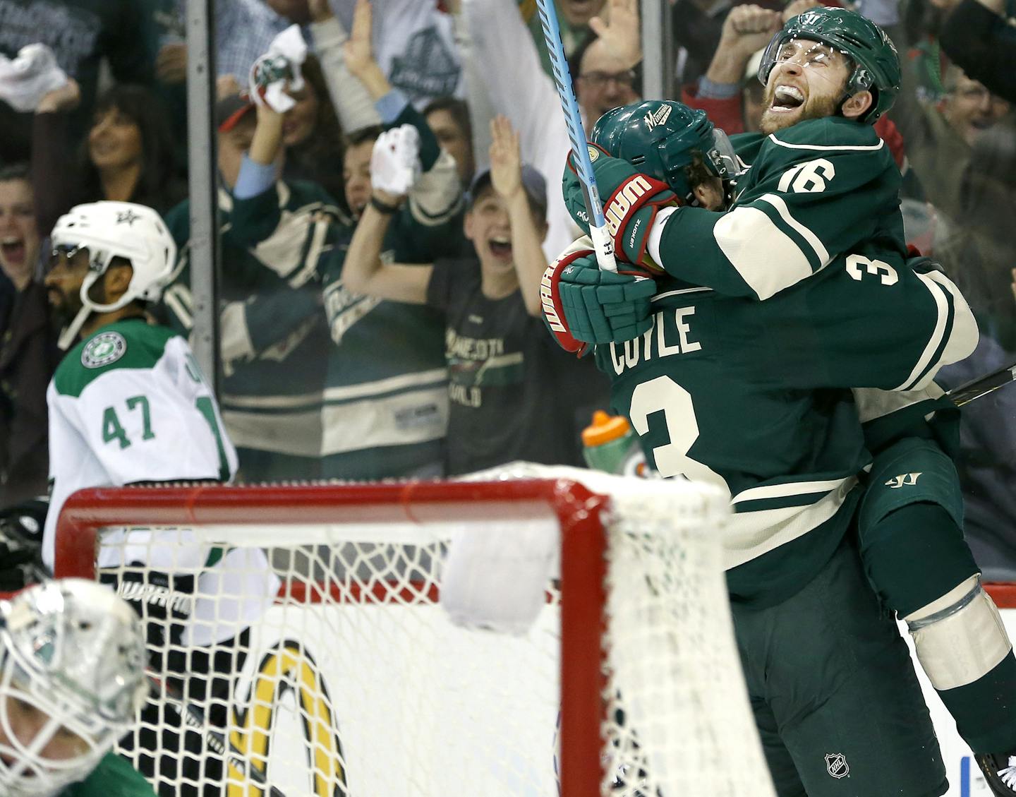
[[[842,480],[839,487],[807,506],[735,512],[723,526],[723,569],[757,559],[814,531],[839,510],[856,483],[852,476]]]

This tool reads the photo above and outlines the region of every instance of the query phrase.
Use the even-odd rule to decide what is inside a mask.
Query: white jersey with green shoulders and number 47
[[[67,498],[86,487],[137,482],[229,481],[237,452],[194,356],[179,334],[131,318],[100,327],[61,361],[47,392],[50,510],[43,561]],[[236,634],[271,605],[278,577],[260,548],[225,551],[187,529],[117,529],[103,538],[99,566],[142,563],[196,576],[184,642]],[[129,591],[121,591],[132,600]],[[235,601],[230,596],[237,596]]]

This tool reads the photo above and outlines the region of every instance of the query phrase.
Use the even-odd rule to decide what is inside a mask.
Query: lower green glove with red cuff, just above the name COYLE
[[[601,271],[588,249],[566,252],[544,272],[544,318],[558,344],[579,356],[588,344],[623,343],[652,325],[656,284],[633,272]]]

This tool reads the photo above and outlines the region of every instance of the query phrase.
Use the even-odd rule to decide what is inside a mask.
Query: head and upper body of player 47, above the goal
[[[61,347],[80,340],[47,392],[52,486],[43,561],[51,569],[59,510],[76,490],[226,481],[237,467],[187,342],[145,316],[177,255],[158,213],[130,202],[80,204],[60,217],[52,243],[46,287],[67,322]]]

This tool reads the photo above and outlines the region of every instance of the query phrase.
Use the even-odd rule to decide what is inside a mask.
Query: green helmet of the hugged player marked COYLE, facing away
[[[738,159],[726,133],[704,111],[669,100],[645,100],[612,108],[592,126],[590,140],[614,158],[662,180],[678,196],[692,201],[687,167],[700,152],[706,168],[728,187]]]

